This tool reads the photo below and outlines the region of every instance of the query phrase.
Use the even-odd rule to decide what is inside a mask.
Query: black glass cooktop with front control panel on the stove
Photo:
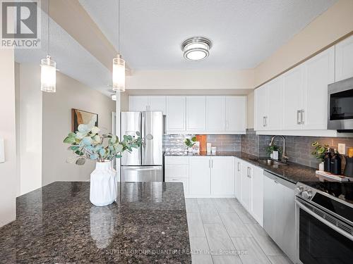
[[[317,192],[311,201],[353,222],[353,182],[305,182],[304,184],[330,194],[327,196]],[[330,196],[340,199],[341,202],[330,199]]]

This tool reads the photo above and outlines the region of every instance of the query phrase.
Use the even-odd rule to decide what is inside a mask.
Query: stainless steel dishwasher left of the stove
[[[295,263],[295,184],[264,171],[263,228]]]

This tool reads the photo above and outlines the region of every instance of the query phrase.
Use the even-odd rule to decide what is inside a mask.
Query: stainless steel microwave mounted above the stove
[[[328,130],[353,132],[353,77],[328,85]]]

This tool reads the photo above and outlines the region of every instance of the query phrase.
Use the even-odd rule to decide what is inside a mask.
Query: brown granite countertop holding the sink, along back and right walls
[[[271,172],[282,179],[288,180],[297,184],[297,182],[318,182],[319,178],[316,176],[315,169],[308,166],[300,165],[297,163],[288,162],[288,166],[279,166],[275,168],[274,166],[265,165],[256,161],[257,156],[250,155],[248,153],[239,151],[220,151],[215,154],[200,152],[200,153],[164,153],[164,156],[234,156],[236,158],[241,158],[241,160],[249,162],[256,165],[264,170]],[[261,157],[260,157],[261,158]]]

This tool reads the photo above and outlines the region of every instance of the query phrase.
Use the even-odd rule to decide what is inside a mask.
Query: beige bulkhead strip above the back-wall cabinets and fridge
[[[253,70],[135,70],[126,89],[253,89]]]

